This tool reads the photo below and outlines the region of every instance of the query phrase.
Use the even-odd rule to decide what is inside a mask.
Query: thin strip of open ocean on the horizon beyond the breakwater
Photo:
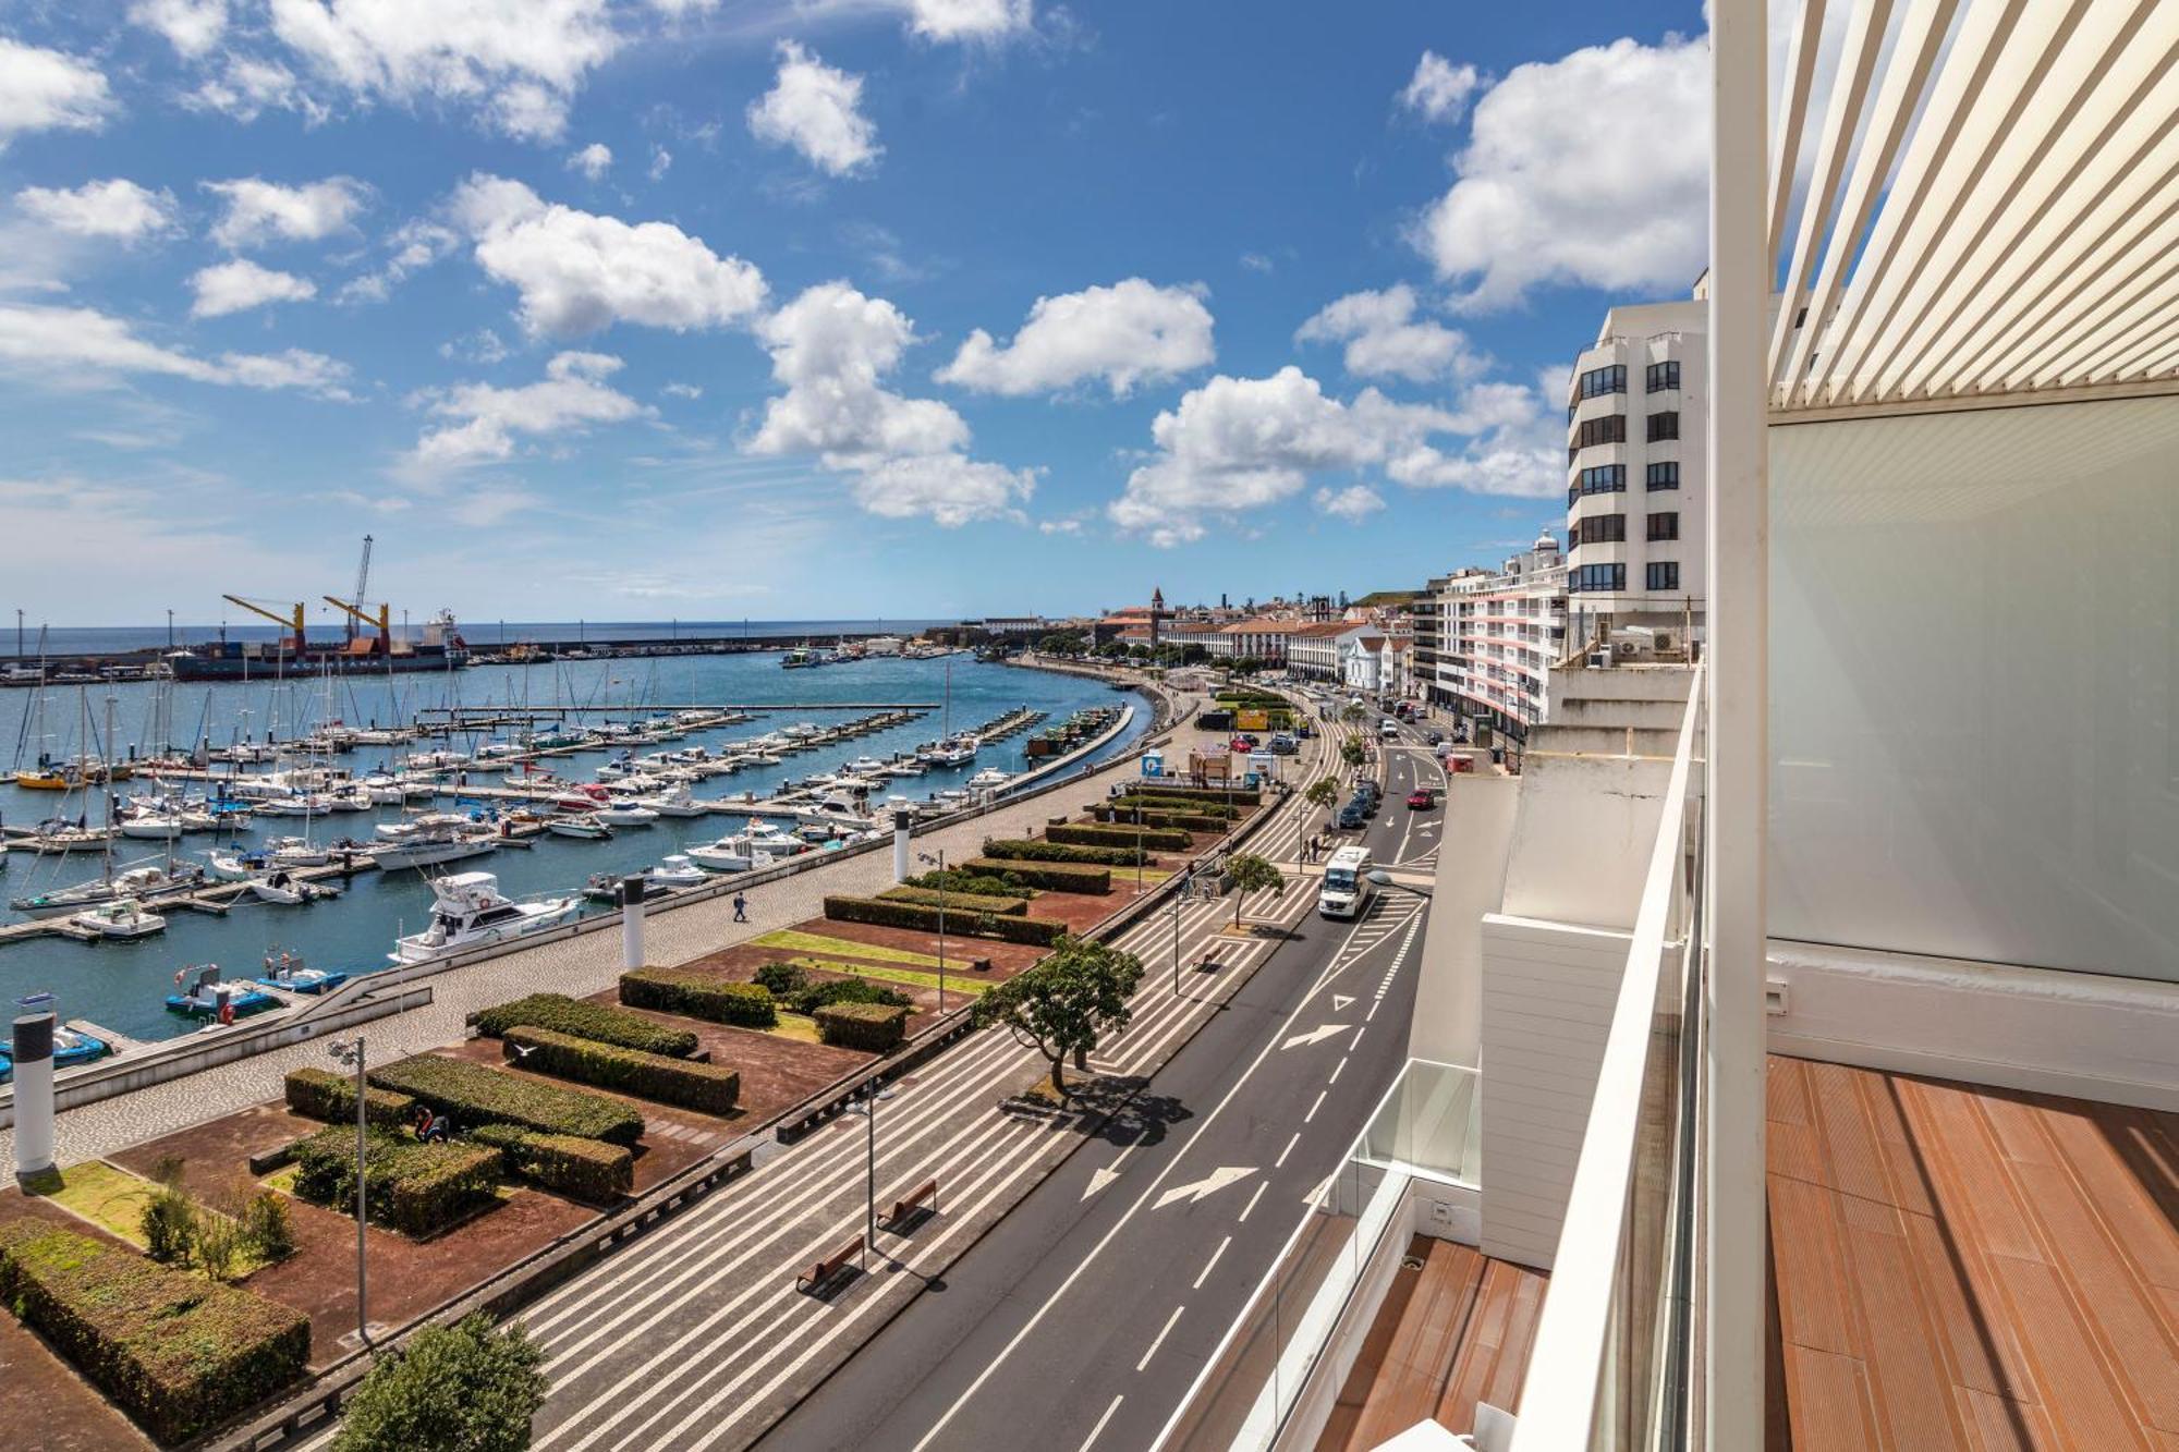
[[[240,610],[238,610],[240,615]],[[913,637],[933,626],[950,626],[946,619],[617,619],[617,621],[523,621],[523,619],[464,619],[462,639],[479,650],[508,645],[514,641],[719,641],[734,637],[826,637],[826,634],[900,634]],[[318,606],[309,615],[309,639],[340,639],[342,619],[331,606]],[[416,639],[423,617],[407,621],[407,637]],[[229,641],[272,641],[281,637],[279,626],[246,615],[227,626],[183,626],[176,624],[172,637],[166,626],[50,626],[44,630],[46,652],[54,656],[98,656],[131,650],[166,650],[216,641],[224,632]],[[37,658],[39,626],[33,621],[22,632],[24,658]],[[15,632],[0,630],[0,656],[15,656]]]

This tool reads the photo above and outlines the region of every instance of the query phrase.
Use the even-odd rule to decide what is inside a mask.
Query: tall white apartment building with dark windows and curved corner
[[[1567,593],[1575,643],[1628,626],[1702,634],[1704,316],[1684,303],[1604,314],[1567,399]],[[1663,641],[1660,641],[1663,643]]]

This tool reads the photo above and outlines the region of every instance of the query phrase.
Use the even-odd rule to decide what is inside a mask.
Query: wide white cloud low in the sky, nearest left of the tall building
[[[1442,410],[1395,403],[1375,388],[1340,403],[1294,366],[1270,377],[1218,375],[1157,414],[1157,456],[1129,475],[1109,515],[1155,545],[1181,545],[1203,539],[1207,517],[1288,499],[1312,473],[1381,464],[1451,423]]]

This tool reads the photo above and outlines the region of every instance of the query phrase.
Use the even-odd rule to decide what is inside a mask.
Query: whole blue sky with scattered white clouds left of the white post
[[[1697,4],[0,20],[0,606],[1066,613],[1560,517],[1702,264]],[[1042,301],[1039,301],[1042,299]],[[1558,456],[1554,460],[1554,456]]]

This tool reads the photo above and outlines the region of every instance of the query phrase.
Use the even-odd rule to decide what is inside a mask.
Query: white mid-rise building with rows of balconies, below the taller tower
[[[1497,573],[1464,569],[1438,593],[1438,685],[1471,719],[1525,737],[1567,652],[1567,562],[1549,532]]]

